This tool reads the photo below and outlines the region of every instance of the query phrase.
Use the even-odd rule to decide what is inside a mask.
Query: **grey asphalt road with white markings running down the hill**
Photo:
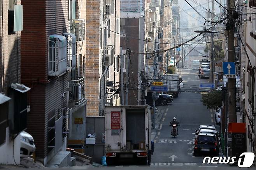
[[[181,92],[174,102],[157,106],[160,114],[158,126],[152,130],[155,149],[151,166],[202,166],[204,156],[193,156],[194,133],[199,125],[215,125],[214,113],[200,101],[199,84],[209,79],[197,79],[197,71],[191,69],[180,69],[179,74],[184,83],[183,91],[195,92]],[[180,122],[179,135],[175,138],[169,127],[174,116]]]

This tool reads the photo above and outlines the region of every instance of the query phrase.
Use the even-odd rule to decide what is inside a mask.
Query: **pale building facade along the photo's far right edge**
[[[256,12],[256,4],[253,1],[245,1],[247,6],[247,13]],[[252,8],[250,8],[252,7]],[[255,66],[256,66],[256,21],[252,19],[252,15],[247,15],[245,28],[245,50],[247,51],[248,57],[245,57],[245,76],[244,76],[244,117],[247,128],[247,151],[256,152],[256,111],[255,111]]]

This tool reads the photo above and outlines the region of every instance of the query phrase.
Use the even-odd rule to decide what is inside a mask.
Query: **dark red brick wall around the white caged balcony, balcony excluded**
[[[67,32],[68,1],[22,0],[21,3],[21,82],[31,87],[28,132],[34,137],[37,159],[42,160],[47,155],[48,114],[55,110],[57,119],[58,114],[62,114],[62,108],[67,105],[67,96],[61,97],[67,91],[67,74],[48,76],[48,37]]]

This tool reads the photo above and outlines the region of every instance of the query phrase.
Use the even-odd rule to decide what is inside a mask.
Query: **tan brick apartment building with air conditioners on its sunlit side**
[[[105,105],[119,101],[118,95],[107,92],[107,80],[115,88],[115,82],[119,82],[117,69],[113,69],[119,60],[119,35],[114,33],[119,30],[119,18],[119,1],[87,1],[85,88],[90,89],[86,91],[88,116],[103,116]]]

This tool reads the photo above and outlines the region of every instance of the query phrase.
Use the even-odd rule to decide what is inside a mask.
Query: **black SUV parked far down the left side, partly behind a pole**
[[[146,96],[146,104],[153,106],[153,98],[152,98],[153,92],[147,92]],[[156,104],[160,105],[167,105],[167,103],[170,103],[173,101],[173,97],[170,94],[158,94],[158,99],[156,100]]]

